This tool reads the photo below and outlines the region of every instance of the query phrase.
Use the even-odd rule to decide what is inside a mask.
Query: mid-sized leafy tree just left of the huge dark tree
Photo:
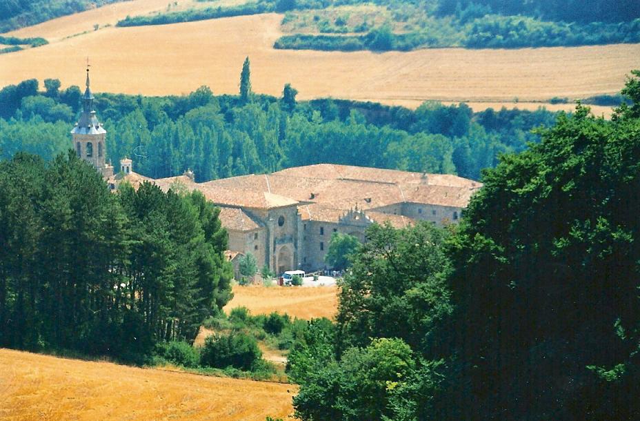
[[[374,224],[366,234],[339,293],[341,348],[399,337],[414,350],[438,355],[437,332],[452,311],[448,231],[420,222],[401,230]]]

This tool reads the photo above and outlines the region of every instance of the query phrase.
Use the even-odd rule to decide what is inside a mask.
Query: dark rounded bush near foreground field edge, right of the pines
[[[262,352],[253,337],[232,332],[208,337],[201,351],[200,363],[218,369],[231,366],[250,371],[261,358]]]

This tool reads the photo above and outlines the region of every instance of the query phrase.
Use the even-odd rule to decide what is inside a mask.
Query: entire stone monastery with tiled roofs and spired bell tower
[[[333,233],[365,241],[365,230],[374,223],[388,222],[396,228],[417,220],[457,223],[471,195],[481,187],[479,182],[456,175],[336,164],[196,183],[191,171],[149,179],[134,173],[132,161],[125,158],[114,175],[113,167],[104,160],[106,131],[95,117],[92,101],[87,74],[83,113],[72,130],[73,146],[112,189],[121,182],[137,187],[148,181],[165,191],[178,185],[199,190],[221,209],[220,219],[229,233],[228,257],[234,260],[252,253],[259,268],[267,264],[277,274],[329,268],[324,257]]]

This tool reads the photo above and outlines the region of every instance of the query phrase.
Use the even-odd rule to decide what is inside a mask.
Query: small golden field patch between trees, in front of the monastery
[[[234,307],[246,307],[252,314],[287,313],[299,319],[332,318],[338,309],[337,286],[303,288],[295,286],[233,287],[233,300],[224,307],[227,313]]]

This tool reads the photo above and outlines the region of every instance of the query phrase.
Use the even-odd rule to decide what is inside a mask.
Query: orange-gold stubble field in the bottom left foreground
[[[0,349],[0,420],[286,418],[297,386]]]

